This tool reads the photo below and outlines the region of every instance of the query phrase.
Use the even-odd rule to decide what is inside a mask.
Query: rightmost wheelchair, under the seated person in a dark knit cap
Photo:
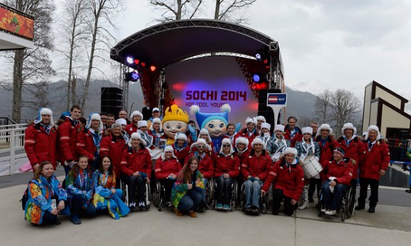
[[[319,192],[319,199],[317,204],[317,213],[321,217],[324,212],[321,212],[321,207],[324,205],[322,188]],[[337,208],[337,215],[339,219],[344,222],[346,219],[351,218],[354,214],[355,207],[355,188],[352,186],[347,186],[346,190],[342,192],[341,199],[339,201],[339,206]]]

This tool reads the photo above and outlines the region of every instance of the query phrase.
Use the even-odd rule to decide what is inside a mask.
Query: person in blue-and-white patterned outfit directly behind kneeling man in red
[[[271,160],[274,162],[280,160],[281,153],[283,153],[284,149],[291,146],[290,140],[285,139],[283,136],[284,129],[285,126],[281,124],[274,126],[274,135],[271,136],[267,142],[266,149],[271,156]]]

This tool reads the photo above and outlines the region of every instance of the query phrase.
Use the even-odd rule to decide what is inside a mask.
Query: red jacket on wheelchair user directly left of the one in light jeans
[[[240,158],[235,154],[224,156],[223,154],[215,153],[213,156],[215,163],[214,177],[220,177],[224,173],[228,173],[230,178],[236,178],[240,174]]]

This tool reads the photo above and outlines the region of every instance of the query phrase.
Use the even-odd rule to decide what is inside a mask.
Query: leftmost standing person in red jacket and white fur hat
[[[54,127],[53,112],[50,108],[40,108],[34,124],[24,133],[24,150],[33,171],[43,161],[49,161],[56,170],[57,130]]]

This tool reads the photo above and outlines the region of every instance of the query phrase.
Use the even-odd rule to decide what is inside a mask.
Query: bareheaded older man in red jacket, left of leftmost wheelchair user
[[[103,156],[109,156],[112,160],[112,168],[115,172],[117,179],[121,177],[120,163],[121,155],[126,148],[126,140],[124,140],[121,134],[121,124],[112,124],[108,130],[108,136],[104,137],[100,143],[100,158]],[[120,182],[116,183],[116,187],[120,187]]]

